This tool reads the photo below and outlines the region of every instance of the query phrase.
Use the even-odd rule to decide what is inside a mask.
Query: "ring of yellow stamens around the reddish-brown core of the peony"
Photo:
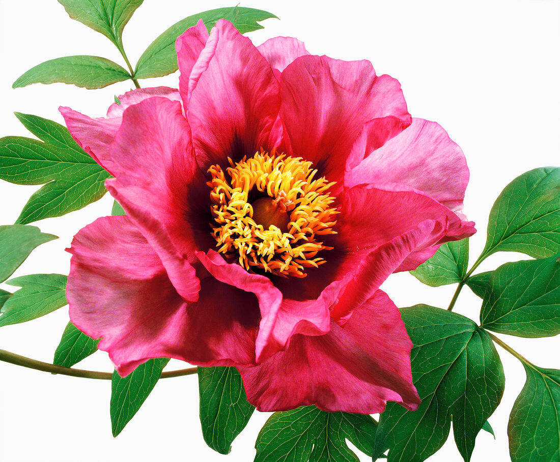
[[[320,250],[330,250],[321,235],[336,234],[338,211],[325,178],[301,157],[260,151],[225,171],[208,169],[212,179],[212,235],[218,252],[239,260],[245,269],[278,276],[305,277],[306,268],[325,263]]]

